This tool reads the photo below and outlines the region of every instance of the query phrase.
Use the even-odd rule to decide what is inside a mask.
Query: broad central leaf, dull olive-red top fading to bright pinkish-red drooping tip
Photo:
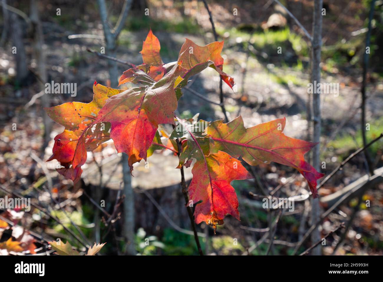
[[[118,152],[129,156],[133,164],[144,159],[160,123],[173,123],[177,98],[174,82],[163,78],[145,89],[132,88],[108,100],[95,122],[109,122],[110,136]]]

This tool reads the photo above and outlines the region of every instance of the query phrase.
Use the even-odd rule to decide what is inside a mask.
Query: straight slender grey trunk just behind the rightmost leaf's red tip
[[[312,81],[318,84],[321,82],[321,45],[322,45],[322,6],[323,0],[314,0],[314,12],[313,12],[313,46],[312,46]],[[319,143],[321,137],[321,94],[313,93],[313,141]],[[320,144],[313,148],[313,167],[320,171]],[[319,198],[312,199],[311,208],[311,224],[315,225],[319,220]],[[311,241],[313,243],[321,239],[321,234],[318,228],[311,234]],[[321,255],[321,245],[316,246],[312,252],[313,255]]]

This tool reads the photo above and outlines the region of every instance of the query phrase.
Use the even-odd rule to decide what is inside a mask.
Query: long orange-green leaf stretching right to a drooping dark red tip
[[[304,160],[304,154],[316,144],[295,139],[283,134],[286,118],[268,121],[245,128],[242,117],[229,123],[222,120],[212,122],[206,133],[214,140],[213,152],[224,151],[233,157],[256,166],[263,162],[277,162],[297,169],[308,181],[313,197],[318,197],[319,173]]]

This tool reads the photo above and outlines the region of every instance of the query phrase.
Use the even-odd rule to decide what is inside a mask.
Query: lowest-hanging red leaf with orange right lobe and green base
[[[241,162],[229,154],[218,151],[211,153],[213,139],[205,133],[206,121],[195,119],[181,120],[170,138],[186,138],[187,146],[180,154],[178,168],[196,162],[191,170],[193,179],[188,188],[190,200],[198,203],[194,217],[198,224],[205,221],[216,230],[217,225],[223,224],[223,219],[230,214],[239,220],[238,199],[232,180],[250,179],[253,176],[242,166]]]

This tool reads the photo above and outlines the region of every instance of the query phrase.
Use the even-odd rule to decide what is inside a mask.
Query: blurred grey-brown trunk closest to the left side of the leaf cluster
[[[44,91],[45,83],[47,80],[47,72],[46,72],[46,57],[45,51],[43,49],[44,46],[44,38],[43,38],[43,29],[41,27],[41,21],[39,18],[39,5],[38,0],[31,0],[31,24],[33,31],[33,54],[37,63],[37,72],[39,75],[39,90]],[[45,93],[41,96],[41,104],[44,108],[49,107],[49,94]],[[50,134],[52,130],[52,120],[46,114],[44,110],[42,110],[43,115],[43,123],[44,123],[44,144],[42,148],[46,148],[48,146],[50,140]],[[43,154],[43,152],[42,152]]]

